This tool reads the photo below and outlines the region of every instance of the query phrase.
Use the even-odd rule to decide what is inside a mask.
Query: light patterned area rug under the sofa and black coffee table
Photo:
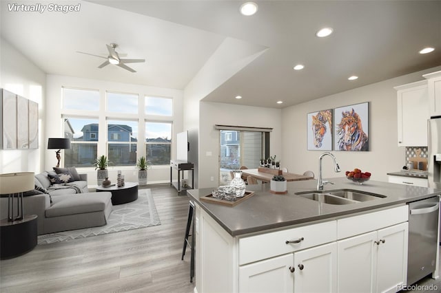
[[[39,244],[71,241],[85,237],[161,225],[150,189],[140,189],[138,199],[113,206],[107,225],[39,235]]]

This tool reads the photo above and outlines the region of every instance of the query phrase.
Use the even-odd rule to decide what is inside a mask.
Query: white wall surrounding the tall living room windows
[[[178,89],[165,89],[160,87],[147,87],[143,85],[132,85],[127,83],[114,83],[104,80],[92,80],[86,78],[74,78],[70,76],[56,76],[48,75],[47,78],[47,91],[48,91],[48,105],[46,123],[48,125],[46,129],[46,137],[57,138],[63,137],[62,120],[61,120],[61,87],[76,87],[81,89],[98,89],[101,96],[101,105],[105,105],[105,91],[117,91],[123,93],[139,94],[139,96],[151,95],[151,96],[164,96],[171,97],[174,100],[173,104],[173,129],[172,129],[172,158],[176,158],[176,133],[183,131],[183,91]],[[104,107],[101,107],[104,109]],[[87,109],[83,113],[88,115]],[[95,114],[96,115],[96,114]],[[105,122],[105,111],[100,111],[99,120]],[[144,117],[140,114],[139,119],[143,120]],[[165,121],[170,121],[170,117],[161,118]],[[139,131],[144,131],[140,127]],[[142,144],[142,143],[141,143]],[[55,155],[53,150],[45,150],[45,170],[51,170],[54,166]],[[98,144],[99,155],[106,153],[106,144],[104,141],[100,141]],[[60,163],[63,166],[63,160]],[[136,166],[110,166],[107,168],[109,171],[109,179],[112,182],[116,182],[116,174],[118,170],[122,171],[125,175],[126,182],[138,182],[138,173]],[[94,168],[80,168],[80,173],[88,174],[88,182],[90,186],[96,184],[96,171]],[[147,183],[163,183],[170,182],[170,166],[152,166],[147,171]]]

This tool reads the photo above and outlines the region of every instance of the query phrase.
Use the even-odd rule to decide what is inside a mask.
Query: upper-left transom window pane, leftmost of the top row
[[[63,87],[63,109],[88,111],[99,110],[99,91]]]

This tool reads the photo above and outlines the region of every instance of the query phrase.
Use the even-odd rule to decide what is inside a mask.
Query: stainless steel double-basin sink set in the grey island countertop
[[[365,191],[355,191],[351,189],[338,189],[335,191],[303,191],[295,193],[295,195],[325,204],[356,204],[386,197],[376,193],[367,193]]]

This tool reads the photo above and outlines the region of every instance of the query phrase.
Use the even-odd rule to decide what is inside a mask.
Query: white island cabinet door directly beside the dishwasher
[[[375,292],[397,292],[407,282],[407,239],[409,224],[378,230]]]

